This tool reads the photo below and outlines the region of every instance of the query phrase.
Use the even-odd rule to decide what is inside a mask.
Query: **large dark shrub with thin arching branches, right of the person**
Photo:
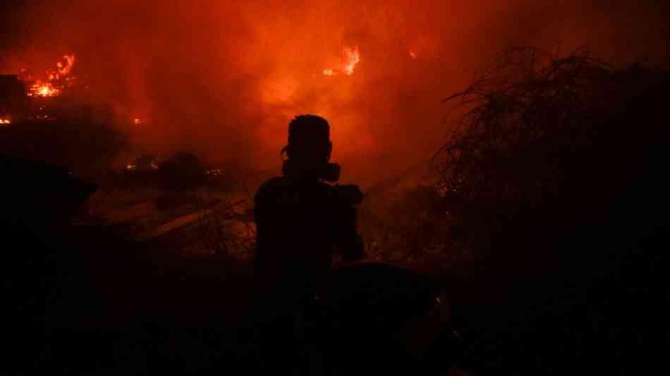
[[[480,254],[496,236],[546,241],[608,217],[662,174],[649,151],[666,140],[669,88],[666,73],[612,68],[587,49],[507,49],[446,99],[463,114],[436,157],[445,211]]]

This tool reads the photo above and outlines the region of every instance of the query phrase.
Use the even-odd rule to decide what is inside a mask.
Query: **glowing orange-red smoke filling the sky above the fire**
[[[345,178],[364,185],[425,164],[446,135],[440,99],[508,44],[565,52],[588,44],[614,63],[668,63],[666,6],[641,2],[63,0],[4,8],[1,71],[40,71],[77,54],[91,97],[111,105],[137,150],[193,150],[210,162],[278,170],[286,124],[315,113],[331,122]],[[345,46],[360,51],[354,73],[324,75]],[[122,120],[135,118],[145,121]]]

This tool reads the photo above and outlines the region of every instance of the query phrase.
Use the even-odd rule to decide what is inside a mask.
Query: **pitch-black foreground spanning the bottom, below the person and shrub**
[[[71,226],[67,219],[75,211],[48,205],[45,195],[59,195],[54,202],[77,207],[70,193],[80,189],[87,195],[93,187],[47,169],[70,188],[59,190],[56,184],[48,193],[6,188],[4,196],[23,198],[5,201],[6,207],[15,205],[2,224],[3,325],[11,344],[3,363],[7,375],[280,369],[307,375],[324,368],[342,375],[445,375],[452,362],[482,375],[540,370],[629,375],[661,359],[665,331],[658,307],[666,285],[660,279],[664,252],[656,244],[666,239],[660,228],[647,231],[650,235],[628,251],[610,253],[608,260],[580,252],[578,264],[560,263],[574,260],[571,255],[547,267],[546,260],[525,255],[503,268],[508,261],[492,258],[475,265],[469,272],[474,279],[456,272],[421,277],[374,265],[359,272],[343,269],[324,291],[334,303],[312,316],[316,326],[305,325],[318,335],[279,339],[276,353],[282,360],[272,363],[261,353],[257,326],[259,315],[267,314],[258,307],[268,308],[259,304],[264,296],[248,263],[166,255],[110,228]],[[577,238],[572,234],[556,244],[569,247]],[[451,322],[426,315],[436,297],[451,301]],[[417,320],[423,323],[410,324]],[[396,334],[408,325],[425,344],[408,345],[412,336],[402,334],[398,340]]]

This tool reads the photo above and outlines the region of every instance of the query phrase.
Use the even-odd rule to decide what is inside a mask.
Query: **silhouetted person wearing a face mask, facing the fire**
[[[279,332],[269,331],[277,339],[291,334],[300,305],[313,296],[336,251],[345,262],[363,258],[355,210],[363,194],[358,186],[331,184],[340,173],[331,151],[326,119],[297,116],[282,150],[288,157],[283,176],[255,195],[256,269],[266,286],[262,299],[276,313],[271,328]]]

